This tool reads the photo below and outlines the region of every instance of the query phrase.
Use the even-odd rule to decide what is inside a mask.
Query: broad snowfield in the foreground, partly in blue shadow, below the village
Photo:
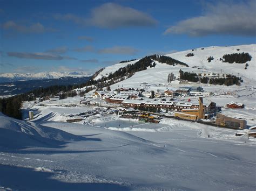
[[[129,121],[105,122],[125,130],[113,131],[100,125],[104,120],[94,126],[24,122],[3,115],[0,120],[0,186],[6,189],[256,188],[255,142],[235,137],[235,130],[173,119],[161,124],[132,122],[138,131]],[[14,132],[17,136],[12,138]]]

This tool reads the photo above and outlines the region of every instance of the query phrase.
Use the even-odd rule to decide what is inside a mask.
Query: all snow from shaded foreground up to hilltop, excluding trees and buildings
[[[0,114],[0,190],[255,190],[256,140],[248,137],[256,125],[255,48],[211,46],[168,54],[189,67],[156,61],[155,67],[110,86],[164,91],[179,88],[179,80],[168,83],[167,77],[172,72],[178,79],[180,69],[233,74],[244,81],[240,86],[199,86],[209,93],[204,101],[215,102],[225,115],[245,119],[243,130],[168,117],[159,123],[120,118],[106,105],[99,107],[106,103],[91,98],[93,91],[85,97],[24,102],[22,121]],[[242,52],[252,56],[247,69],[245,63],[220,60]],[[208,62],[210,56],[214,59]],[[95,80],[137,61],[106,67]],[[198,102],[197,96],[178,101],[188,98]],[[226,108],[232,101],[245,107]],[[66,122],[76,117],[81,120]]]

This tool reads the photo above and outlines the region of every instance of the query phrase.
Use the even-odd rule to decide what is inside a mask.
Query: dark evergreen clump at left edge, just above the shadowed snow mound
[[[20,97],[0,98],[0,111],[6,116],[22,119],[21,107]]]

